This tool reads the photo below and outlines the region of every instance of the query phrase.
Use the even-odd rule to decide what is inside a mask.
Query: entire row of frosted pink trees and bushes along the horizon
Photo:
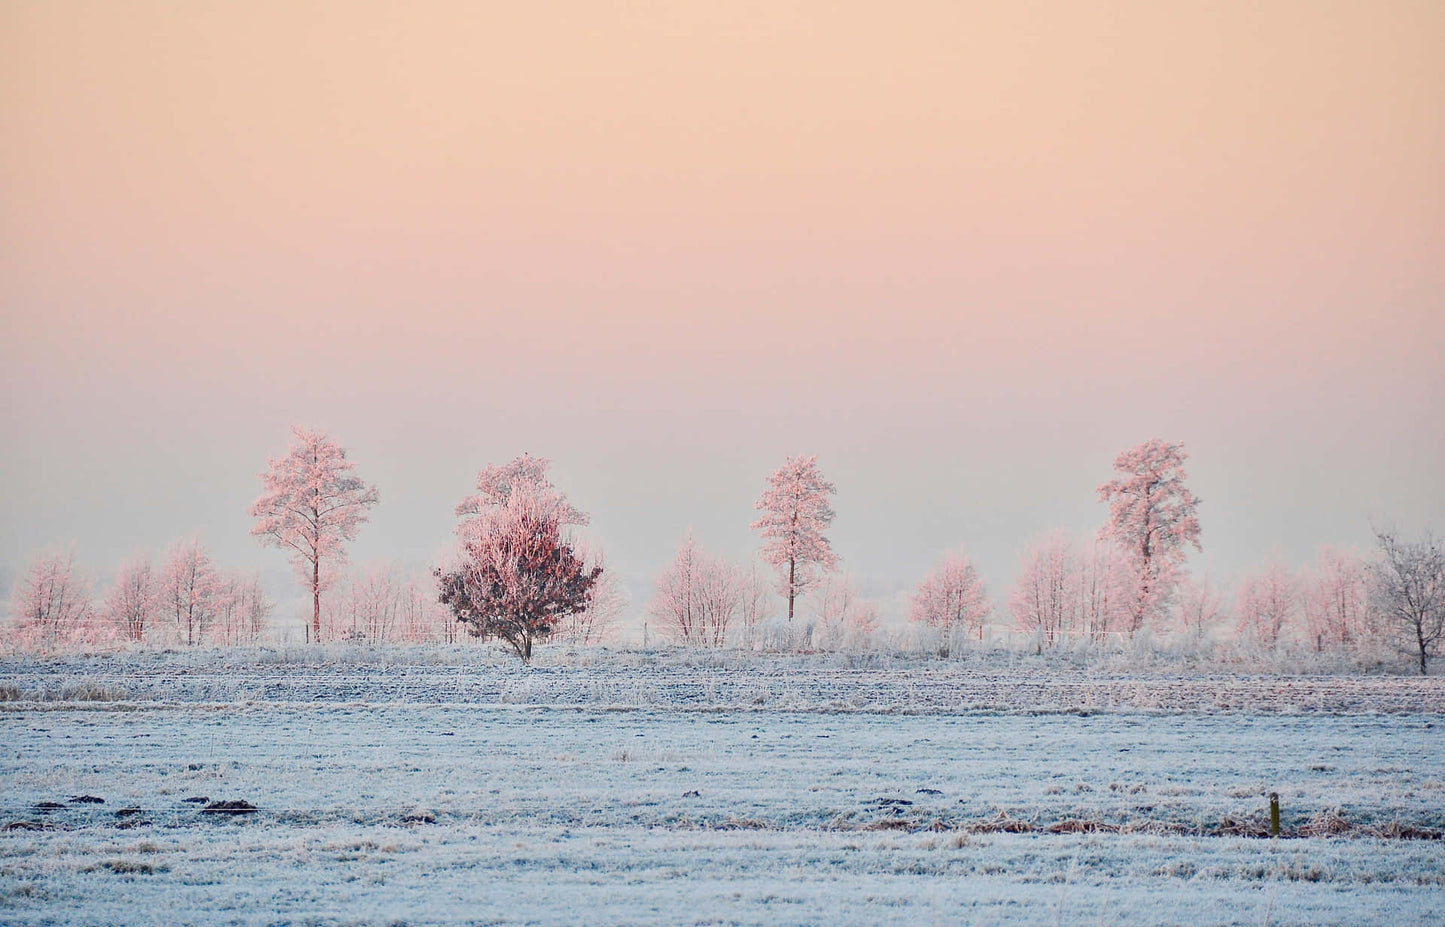
[[[462,628],[501,640],[529,660],[538,641],[595,643],[616,625],[626,606],[621,589],[601,552],[575,537],[587,514],[551,482],[546,459],[523,455],[478,474],[477,494],[457,507],[455,553],[431,578],[392,567],[348,572],[345,543],[377,504],[377,489],[325,433],[293,435],[288,455],[262,475],[253,534],[289,553],[311,596],[311,640],[455,641]],[[1098,533],[1079,540],[1052,531],[1032,541],[1003,624],[1027,632],[1039,650],[1146,630],[1204,640],[1231,622],[1237,640],[1261,650],[1345,650],[1392,640],[1425,670],[1445,634],[1438,541],[1381,533],[1368,562],[1327,550],[1306,575],[1270,565],[1246,576],[1230,604],[1185,570],[1188,552],[1202,549],[1199,500],[1186,485],[1185,461],[1182,445],[1157,439],[1120,453],[1114,478],[1098,487],[1108,507]],[[867,638],[877,628],[877,608],[838,573],[825,534],[835,492],[815,458],[788,458],[756,504],[760,562],[727,563],[689,533],[657,578],[647,617],[692,645],[834,647]],[[12,611],[35,645],[69,638],[244,643],[256,638],[269,611],[254,578],[217,570],[194,540],[176,544],[160,569],[147,557],[129,562],[103,606],[90,604],[81,585],[69,554],[32,565]],[[786,604],[782,621],[770,618],[773,592]],[[923,579],[909,618],[936,628],[948,648],[983,635],[993,605],[962,550],[946,553]]]

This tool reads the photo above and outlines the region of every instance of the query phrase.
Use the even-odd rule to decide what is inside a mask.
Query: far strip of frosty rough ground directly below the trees
[[[1019,654],[545,650],[522,666],[490,647],[327,647],[133,653],[0,663],[20,702],[147,705],[535,705],[691,710],[1431,712],[1445,677],[1103,673]]]

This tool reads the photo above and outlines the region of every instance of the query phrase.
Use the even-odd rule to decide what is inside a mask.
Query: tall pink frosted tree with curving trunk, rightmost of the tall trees
[[[1108,521],[1100,534],[1117,541],[1136,570],[1130,634],[1169,601],[1188,554],[1185,546],[1202,550],[1199,500],[1183,485],[1188,456],[1183,443],[1153,438],[1114,458],[1118,476],[1098,487],[1100,501],[1108,502]]]

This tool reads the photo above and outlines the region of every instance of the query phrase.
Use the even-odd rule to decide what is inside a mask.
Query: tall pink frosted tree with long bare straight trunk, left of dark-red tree
[[[290,553],[298,576],[311,586],[311,640],[319,641],[322,565],[331,569],[345,560],[344,544],[355,540],[377,492],[357,478],[347,452],[325,432],[293,427],[292,435],[290,452],[269,461],[262,474],[251,534]]]

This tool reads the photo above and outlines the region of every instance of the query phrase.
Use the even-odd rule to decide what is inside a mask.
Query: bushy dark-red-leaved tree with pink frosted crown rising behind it
[[[562,619],[584,611],[603,567],[588,569],[568,526],[587,524],[546,478],[549,461],[520,456],[477,476],[457,507],[458,566],[436,570],[441,604],[477,637],[507,643],[523,663]]]

